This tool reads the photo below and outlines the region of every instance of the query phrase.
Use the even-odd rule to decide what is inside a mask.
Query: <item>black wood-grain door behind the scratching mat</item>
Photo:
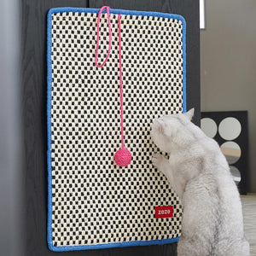
[[[200,37],[199,1],[195,0],[22,0],[20,4],[22,121],[25,144],[24,215],[20,255],[56,255],[47,247],[47,166],[46,166],[46,14],[54,7],[160,11],[183,15],[187,22],[187,105],[195,108],[200,122]],[[96,251],[67,252],[65,255],[176,255],[177,245],[125,247]],[[62,254],[62,253],[61,253]]]

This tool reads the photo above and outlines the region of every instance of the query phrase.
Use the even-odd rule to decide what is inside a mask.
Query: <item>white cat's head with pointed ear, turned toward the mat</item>
[[[188,131],[194,108],[187,113],[165,115],[154,119],[150,132],[153,142],[162,151],[170,153],[173,147],[186,147],[193,137]]]

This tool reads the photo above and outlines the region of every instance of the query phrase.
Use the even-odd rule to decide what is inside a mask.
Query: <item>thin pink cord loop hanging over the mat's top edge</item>
[[[99,51],[99,41],[100,41],[100,21],[101,21],[101,15],[102,15],[103,9],[106,9],[106,10],[107,10],[107,14],[108,14],[109,43],[108,43],[108,55],[107,55],[105,61],[104,61],[101,65],[99,65],[99,63],[98,63],[98,51]],[[103,67],[103,66],[106,64],[106,62],[108,61],[108,57],[109,57],[109,55],[110,55],[110,51],[111,51],[111,38],[112,38],[112,35],[111,35],[111,24],[110,24],[109,9],[110,9],[109,6],[102,6],[102,8],[100,9],[99,14],[98,14],[98,20],[97,20],[97,41],[96,41],[96,57],[95,57],[95,64],[96,64],[96,67]]]

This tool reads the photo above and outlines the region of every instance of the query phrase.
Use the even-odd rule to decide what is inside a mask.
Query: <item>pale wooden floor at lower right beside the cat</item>
[[[256,194],[241,195],[244,230],[251,256],[256,256]]]

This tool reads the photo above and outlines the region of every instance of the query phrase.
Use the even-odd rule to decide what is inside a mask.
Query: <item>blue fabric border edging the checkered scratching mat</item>
[[[51,84],[52,84],[52,67],[51,67],[51,20],[52,15],[55,13],[66,12],[79,12],[79,13],[98,13],[100,9],[90,8],[53,8],[49,9],[47,15],[47,170],[48,170],[48,221],[47,221],[47,242],[51,251],[65,252],[65,251],[78,251],[78,250],[90,250],[90,249],[103,249],[111,247],[135,247],[135,246],[148,246],[148,245],[163,245],[172,242],[177,242],[179,237],[164,240],[153,241],[124,241],[118,243],[108,243],[99,245],[84,245],[84,246],[67,246],[67,247],[55,247],[52,241],[52,170],[51,170]],[[172,15],[159,12],[146,12],[136,10],[125,9],[109,9],[110,14],[121,15],[143,15],[154,16],[169,19],[181,20],[183,23],[183,113],[187,111],[187,96],[186,96],[186,21],[181,15]],[[106,9],[103,10],[103,13]]]

